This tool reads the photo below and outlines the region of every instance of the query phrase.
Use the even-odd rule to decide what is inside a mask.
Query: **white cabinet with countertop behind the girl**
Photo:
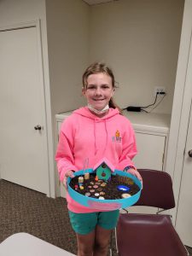
[[[72,112],[66,112],[55,115],[56,145],[61,123],[71,113]],[[133,161],[137,168],[148,168],[159,171],[165,170],[166,144],[169,133],[170,115],[162,113],[132,112],[124,112],[124,115],[130,119],[136,132],[138,154]],[[63,185],[60,185],[57,194],[65,197]]]

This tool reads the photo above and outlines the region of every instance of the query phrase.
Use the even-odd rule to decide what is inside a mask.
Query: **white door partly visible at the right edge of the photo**
[[[184,139],[184,138],[183,138]],[[192,104],[183,160],[183,175],[177,207],[176,229],[185,245],[192,247]]]

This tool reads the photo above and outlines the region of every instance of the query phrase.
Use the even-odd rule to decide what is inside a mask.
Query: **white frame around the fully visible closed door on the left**
[[[32,20],[28,22],[21,22],[17,24],[11,24],[8,26],[0,26],[0,32],[5,31],[12,31],[17,29],[25,29],[35,27],[37,32],[37,43],[38,43],[38,70],[39,70],[39,79],[40,79],[40,95],[42,98],[41,101],[41,109],[42,109],[42,118],[44,123],[44,150],[45,150],[45,170],[47,170],[47,189],[46,189],[46,195],[50,196],[50,168],[49,168],[49,141],[48,141],[48,122],[47,122],[47,113],[46,111],[46,90],[45,90],[45,83],[44,83],[44,61],[43,61],[43,49],[42,49],[42,38],[41,38],[41,26],[40,26],[40,20]],[[1,173],[0,173],[1,178]],[[53,197],[55,197],[55,193],[52,193]]]

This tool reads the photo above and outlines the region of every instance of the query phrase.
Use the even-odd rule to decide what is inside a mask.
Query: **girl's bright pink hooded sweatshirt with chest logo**
[[[61,125],[60,139],[55,154],[60,180],[68,170],[93,168],[103,157],[118,170],[134,166],[132,158],[137,154],[135,133],[130,121],[119,114],[117,108],[109,108],[102,118],[91,113],[87,107],[75,110]],[[72,212],[98,212],[84,207],[67,193],[68,209]]]

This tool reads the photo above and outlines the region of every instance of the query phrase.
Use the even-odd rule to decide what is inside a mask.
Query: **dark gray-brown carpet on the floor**
[[[65,199],[48,198],[32,189],[0,180],[0,242],[18,232],[29,233],[68,252],[77,253]],[[114,236],[112,243],[115,256]],[[188,249],[192,256],[192,249]]]

